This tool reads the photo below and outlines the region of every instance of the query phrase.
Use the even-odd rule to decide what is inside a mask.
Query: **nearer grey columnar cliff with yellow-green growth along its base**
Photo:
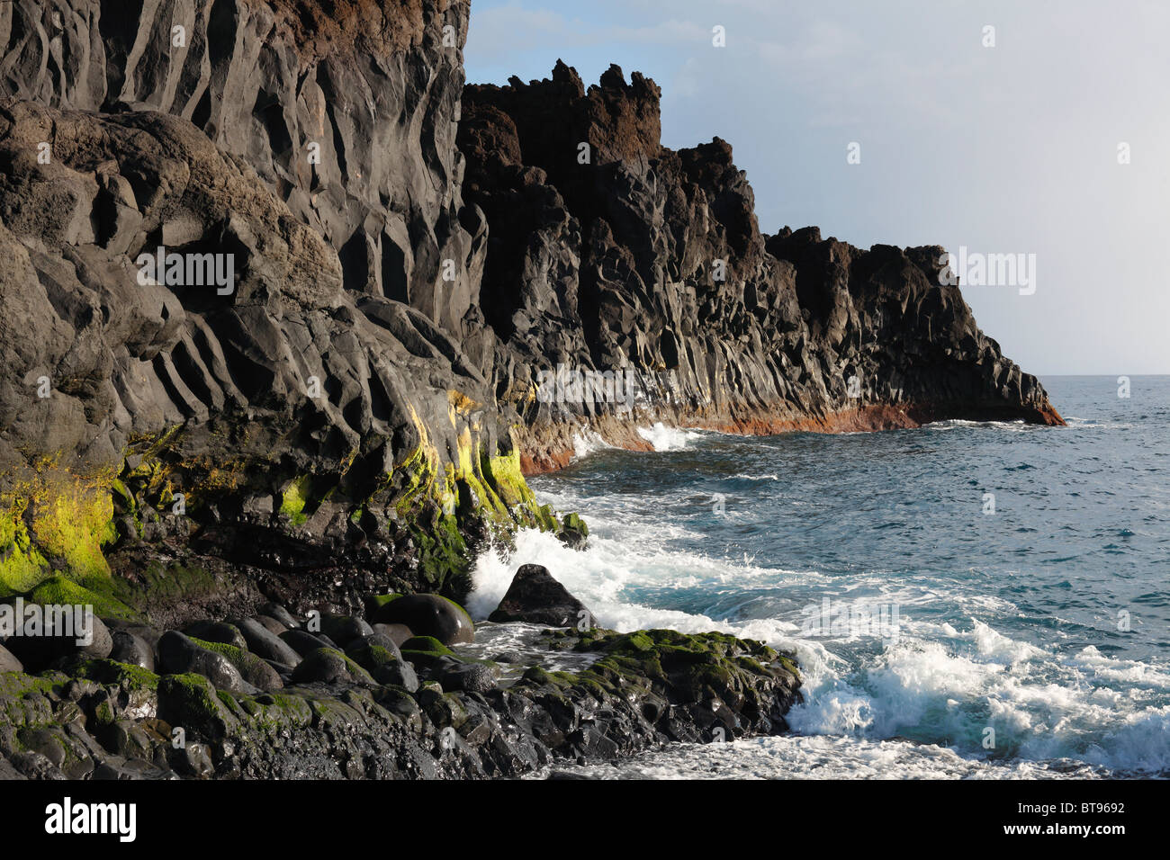
[[[486,520],[551,525],[488,384],[487,228],[455,147],[467,19],[0,9],[7,591],[97,584],[109,558],[243,571],[256,599],[460,593]],[[142,276],[171,254],[234,277]]]

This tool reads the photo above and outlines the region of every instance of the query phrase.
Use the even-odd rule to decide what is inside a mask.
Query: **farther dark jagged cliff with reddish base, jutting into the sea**
[[[481,294],[501,339],[496,391],[524,415],[530,470],[565,462],[585,426],[638,443],[636,421],[611,404],[531,395],[534,369],[560,363],[631,367],[644,422],[1061,422],[958,288],[940,285],[942,248],[866,252],[814,227],[763,235],[731,147],[662,147],[658,99],[638,74],[627,84],[611,67],[586,90],[564,64],[464,92],[464,195],[490,225]]]

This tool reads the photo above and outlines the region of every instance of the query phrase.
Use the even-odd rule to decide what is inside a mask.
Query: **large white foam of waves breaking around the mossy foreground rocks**
[[[543,496],[543,501],[576,507],[564,494]],[[633,514],[606,521],[590,517],[587,511],[586,518],[592,534],[585,551],[571,550],[551,535],[525,530],[510,552],[482,555],[474,571],[469,611],[484,618],[517,567],[538,563],[605,627],[674,627],[688,633],[718,629],[796,652],[805,702],[792,709],[789,722],[801,735],[823,738],[821,745],[810,745],[808,738],[790,738],[777,748],[782,754],[772,750],[759,759],[758,750],[746,752],[755,748],[732,744],[729,750],[744,750],[750,759],[735,768],[748,772],[760,768],[760,776],[796,776],[789,771],[832,752],[845,756],[835,765],[844,770],[837,772],[861,776],[1055,776],[1069,766],[1088,765],[1119,773],[1170,770],[1170,706],[1159,704],[1170,690],[1170,667],[1109,658],[1093,647],[1075,653],[1041,648],[975,618],[918,618],[920,607],[925,612],[944,598],[957,599],[961,606],[970,604],[972,614],[1018,614],[1003,598],[968,594],[971,600],[966,600],[943,594],[938,582],[927,575],[899,580],[880,572],[844,580],[826,578],[815,571],[756,566],[731,553],[721,558],[675,549],[676,542],[695,537],[676,522],[651,522]],[[799,626],[800,605],[808,603],[804,598],[793,598],[771,617],[737,618],[736,607],[752,600],[752,594],[770,596],[778,586],[803,594],[832,589],[844,600],[896,603],[902,613],[901,635],[896,642],[855,635],[810,639]],[[647,590],[701,592],[710,606],[689,612],[660,608],[631,593],[645,594]],[[737,600],[720,604],[720,594],[734,594]],[[987,728],[996,731],[997,749],[1013,751],[1012,764],[983,761],[987,754],[980,742]],[[907,736],[922,741],[945,737],[952,749],[907,747],[899,739]],[[885,749],[886,744],[894,745]],[[694,755],[698,756],[694,764],[682,756],[663,759],[670,763],[661,766],[681,775],[694,768],[702,770],[708,766],[702,762],[711,761]],[[875,758],[865,764],[858,756]],[[1073,759],[1073,764],[1065,759]],[[1060,764],[1049,773],[1051,762]],[[646,766],[647,773],[656,772],[658,765]]]

